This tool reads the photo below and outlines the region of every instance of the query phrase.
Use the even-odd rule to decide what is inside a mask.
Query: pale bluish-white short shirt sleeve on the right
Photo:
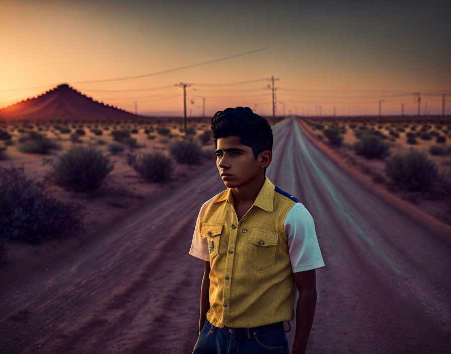
[[[302,203],[291,207],[284,225],[293,273],[325,267],[313,217]]]

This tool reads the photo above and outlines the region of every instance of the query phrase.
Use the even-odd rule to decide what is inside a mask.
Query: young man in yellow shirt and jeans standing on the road
[[[189,254],[205,260],[193,354],[288,353],[283,321],[294,317],[291,353],[304,353],[324,267],[315,225],[295,197],[265,174],[272,129],[249,107],[211,120],[216,166],[227,190],[200,208]],[[289,322],[288,322],[289,325]]]

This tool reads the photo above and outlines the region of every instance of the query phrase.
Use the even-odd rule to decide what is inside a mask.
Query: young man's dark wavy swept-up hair
[[[249,107],[226,108],[223,111],[217,111],[211,118],[210,132],[215,147],[217,147],[218,138],[239,136],[240,143],[252,148],[255,160],[259,152],[263,150],[272,152],[271,125],[265,118],[252,112]]]

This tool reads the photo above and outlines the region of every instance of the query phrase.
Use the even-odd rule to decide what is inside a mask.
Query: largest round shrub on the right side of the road
[[[405,155],[391,156],[385,162],[387,175],[407,191],[427,191],[437,180],[435,163],[416,149],[410,148]]]

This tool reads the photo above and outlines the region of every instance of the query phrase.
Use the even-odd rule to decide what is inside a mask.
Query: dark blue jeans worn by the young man
[[[205,319],[192,354],[288,354],[288,339],[283,327],[264,334],[254,334],[252,329],[234,331],[234,328],[230,333],[229,329],[215,327]]]

